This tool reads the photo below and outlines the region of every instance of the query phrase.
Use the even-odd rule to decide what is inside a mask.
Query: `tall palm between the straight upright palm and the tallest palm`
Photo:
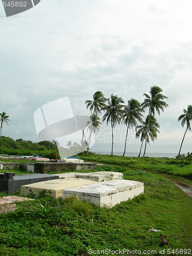
[[[141,104],[136,99],[128,100],[128,105],[124,107],[124,114],[123,114],[123,122],[126,124],[127,130],[126,130],[126,138],[125,138],[125,146],[124,146],[124,152],[123,157],[125,155],[126,151],[126,140],[127,140],[127,134],[129,128],[133,129],[133,126],[137,126],[137,120],[142,122],[143,115],[141,112],[143,109],[141,108]]]

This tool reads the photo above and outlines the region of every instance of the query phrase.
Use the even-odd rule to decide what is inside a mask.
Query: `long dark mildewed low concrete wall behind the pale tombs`
[[[63,170],[90,170],[97,167],[96,163],[33,163],[34,173],[47,174]]]

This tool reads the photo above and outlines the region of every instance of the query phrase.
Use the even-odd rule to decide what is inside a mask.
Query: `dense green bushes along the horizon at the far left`
[[[16,155],[16,156],[31,156],[33,154],[44,155],[46,152],[56,151],[56,143],[44,140],[32,142],[31,140],[17,139],[2,136],[0,140],[0,154]]]

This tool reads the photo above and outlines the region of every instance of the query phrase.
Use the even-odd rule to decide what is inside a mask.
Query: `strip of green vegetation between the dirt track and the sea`
[[[153,172],[181,176],[192,179],[192,154],[176,158],[157,157],[121,157],[98,154],[82,154],[81,159],[106,164],[115,164],[129,168],[150,170]]]

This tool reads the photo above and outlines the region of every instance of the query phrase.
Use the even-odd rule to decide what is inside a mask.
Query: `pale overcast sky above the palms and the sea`
[[[96,91],[142,102],[159,86],[169,106],[156,116],[161,133],[147,152],[178,153],[186,127],[177,119],[192,104],[191,11],[189,0],[41,0],[6,17],[0,3],[0,112],[11,120],[2,134],[39,141],[34,112],[61,97],[75,116],[90,115],[84,102]],[[114,152],[122,152],[117,128]],[[92,151],[111,150],[110,131],[103,125]],[[187,132],[181,153],[191,143]],[[130,133],[127,152],[139,148]]]

